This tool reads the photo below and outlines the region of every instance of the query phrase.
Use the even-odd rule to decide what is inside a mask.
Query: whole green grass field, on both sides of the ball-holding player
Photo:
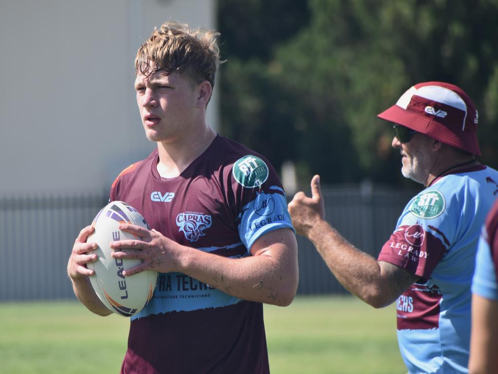
[[[299,297],[287,308],[266,305],[264,315],[274,374],[406,373],[393,306]],[[0,373],[119,373],[128,325],[77,302],[0,303]]]

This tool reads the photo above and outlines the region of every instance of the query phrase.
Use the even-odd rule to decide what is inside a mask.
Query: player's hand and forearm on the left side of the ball
[[[67,274],[71,279],[73,291],[78,300],[91,312],[100,316],[109,316],[112,312],[100,301],[90,283],[89,277],[94,276],[95,272],[86,267],[87,263],[97,261],[95,253],[87,254],[87,252],[97,249],[96,243],[86,242],[88,235],[93,230],[93,226],[87,226],[80,231],[69,257]]]

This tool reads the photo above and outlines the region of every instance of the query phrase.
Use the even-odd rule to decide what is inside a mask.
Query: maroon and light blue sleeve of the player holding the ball
[[[248,252],[263,234],[280,228],[294,231],[285,192],[266,160],[256,155],[240,158],[232,166],[231,183],[239,236]]]

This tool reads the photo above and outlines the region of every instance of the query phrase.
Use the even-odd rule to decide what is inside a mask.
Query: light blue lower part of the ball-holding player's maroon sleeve
[[[256,194],[254,200],[242,209],[239,236],[248,252],[254,241],[263,234],[279,228],[290,228],[294,231],[283,190],[277,186],[269,189],[269,193]],[[271,190],[275,192],[272,193]]]

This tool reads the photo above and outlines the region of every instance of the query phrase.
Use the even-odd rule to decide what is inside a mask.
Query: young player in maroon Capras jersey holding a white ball
[[[113,257],[143,260],[125,276],[160,274],[131,318],[122,373],[268,373],[261,303],[287,306],[297,289],[297,244],[277,174],[206,124],[217,35],[169,21],[135,59],[138,109],[157,149],[119,175],[110,199],[135,207],[153,229],[123,224],[141,239],[114,242]],[[68,274],[78,299],[105,316],[86,267],[97,260],[87,254],[91,232],[76,239]]]

